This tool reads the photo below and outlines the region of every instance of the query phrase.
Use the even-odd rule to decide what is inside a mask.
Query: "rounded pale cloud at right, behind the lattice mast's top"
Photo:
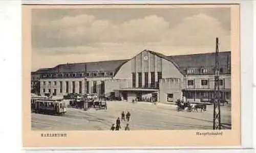
[[[230,47],[230,32],[223,30],[221,23],[214,17],[197,14],[185,18],[181,23],[164,35],[172,45],[214,46],[219,37],[223,49]]]

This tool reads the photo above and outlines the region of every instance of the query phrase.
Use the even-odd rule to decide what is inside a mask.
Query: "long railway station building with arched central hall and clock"
[[[230,55],[219,53],[221,98],[228,101]],[[97,93],[127,101],[208,102],[214,96],[214,69],[215,53],[165,56],[143,50],[132,59],[60,64],[39,69],[31,76],[37,76],[41,95]]]

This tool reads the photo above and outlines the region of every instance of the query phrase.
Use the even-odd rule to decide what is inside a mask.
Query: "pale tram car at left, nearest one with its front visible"
[[[36,99],[34,112],[40,114],[61,115],[67,113],[67,106],[62,99]]]

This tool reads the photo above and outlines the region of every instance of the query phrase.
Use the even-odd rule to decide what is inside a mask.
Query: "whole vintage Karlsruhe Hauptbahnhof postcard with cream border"
[[[23,5],[23,146],[239,146],[239,11]]]

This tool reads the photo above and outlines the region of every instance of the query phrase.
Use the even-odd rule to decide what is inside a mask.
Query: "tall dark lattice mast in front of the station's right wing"
[[[221,129],[221,109],[220,109],[220,71],[219,71],[219,38],[216,38],[215,53],[215,88],[214,88],[214,130]]]

